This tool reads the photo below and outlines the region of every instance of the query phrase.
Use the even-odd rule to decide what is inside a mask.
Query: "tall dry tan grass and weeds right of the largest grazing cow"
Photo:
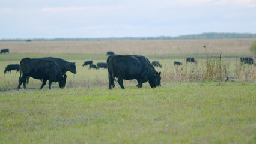
[[[256,79],[256,66],[248,64],[231,64],[221,58],[200,59],[197,63],[185,63],[183,66],[165,67],[162,73],[163,82],[190,82],[200,80],[221,81],[227,77],[234,77],[238,81],[252,82]]]

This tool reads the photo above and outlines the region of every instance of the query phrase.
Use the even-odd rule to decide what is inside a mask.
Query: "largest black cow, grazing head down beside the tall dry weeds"
[[[111,55],[107,59],[109,89],[115,87],[114,79],[124,89],[123,80],[136,79],[138,88],[142,83],[149,82],[151,88],[161,85],[161,72],[157,72],[145,56],[136,55]]]

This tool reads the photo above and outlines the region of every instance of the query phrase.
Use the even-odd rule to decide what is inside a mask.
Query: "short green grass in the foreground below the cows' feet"
[[[0,92],[0,143],[255,143],[255,83]]]

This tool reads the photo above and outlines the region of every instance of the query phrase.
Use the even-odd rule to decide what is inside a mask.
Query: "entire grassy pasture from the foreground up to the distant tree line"
[[[256,67],[239,59],[253,56],[253,41],[0,42],[10,49],[0,55],[0,143],[256,143]],[[82,67],[106,62],[108,50],[159,61],[162,86],[124,80],[126,89],[108,90],[106,69]],[[5,67],[44,56],[76,62],[77,74],[66,73],[64,89],[39,90],[31,78],[17,91],[20,73],[4,74]],[[222,82],[227,76],[236,81]]]

